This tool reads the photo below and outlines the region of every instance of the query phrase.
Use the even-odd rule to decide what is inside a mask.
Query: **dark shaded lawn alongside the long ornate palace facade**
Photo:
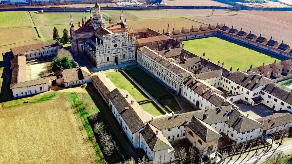
[[[164,97],[170,95],[168,91],[166,91],[165,86],[159,83],[156,79],[142,70],[140,67],[135,67],[127,72],[139,82],[153,97]]]

